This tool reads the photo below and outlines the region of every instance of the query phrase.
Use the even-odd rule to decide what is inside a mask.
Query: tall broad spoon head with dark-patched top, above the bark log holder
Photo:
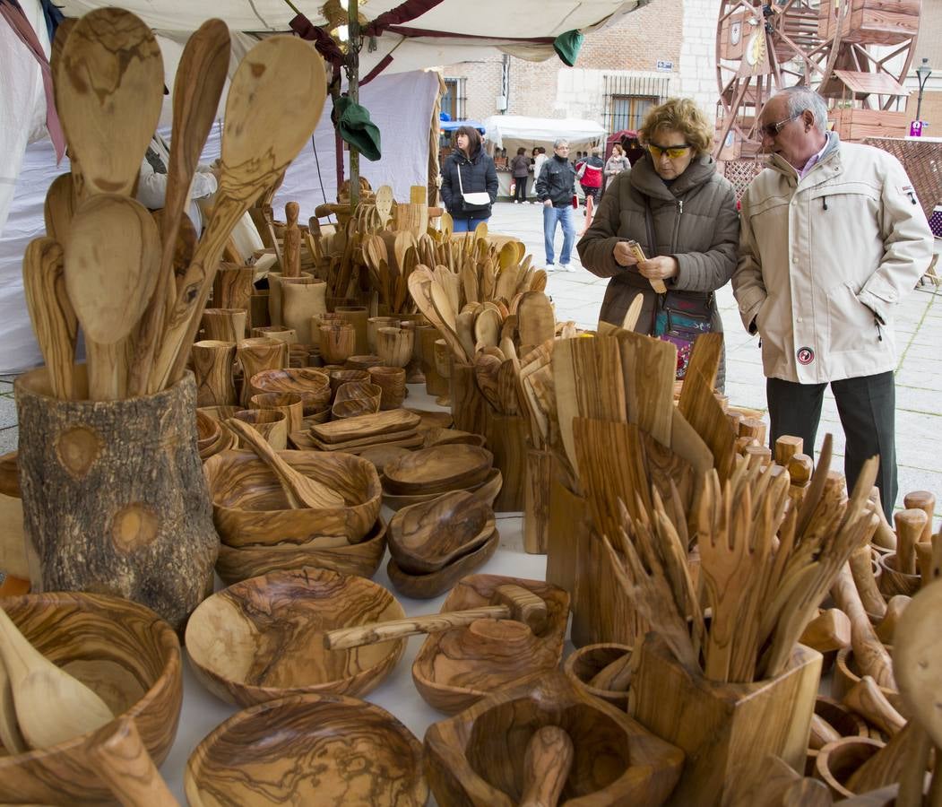
[[[85,191],[130,195],[163,105],[154,34],[129,11],[96,8],[74,25],[61,62],[58,113]]]

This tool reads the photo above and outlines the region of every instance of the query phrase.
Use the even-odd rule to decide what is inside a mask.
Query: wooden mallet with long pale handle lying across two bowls
[[[328,650],[346,650],[403,636],[437,634],[470,625],[478,619],[515,619],[526,623],[534,634],[541,633],[546,626],[545,601],[520,585],[498,585],[491,602],[496,604],[328,631],[324,634],[324,647]]]

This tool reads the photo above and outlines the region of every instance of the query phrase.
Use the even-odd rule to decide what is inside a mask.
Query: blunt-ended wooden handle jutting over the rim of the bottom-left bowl
[[[122,717],[108,729],[90,753],[115,798],[124,807],[177,807],[179,802],[160,778],[134,720]]]

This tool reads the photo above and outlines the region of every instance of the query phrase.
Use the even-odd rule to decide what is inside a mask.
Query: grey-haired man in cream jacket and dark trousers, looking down
[[[897,496],[893,315],[929,265],[932,233],[900,162],[829,133],[816,92],[776,93],[759,126],[771,158],[742,197],[733,290],[760,337],[771,441],[800,436],[811,453],[830,384],[847,484],[879,454],[888,518]]]

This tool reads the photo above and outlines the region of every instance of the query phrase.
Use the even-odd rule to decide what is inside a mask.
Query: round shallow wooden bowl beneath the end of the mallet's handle
[[[187,655],[210,692],[240,706],[309,692],[365,695],[396,666],[406,639],[328,651],[321,634],[403,617],[396,598],[363,577],[283,569],[201,602],[187,622]]]

